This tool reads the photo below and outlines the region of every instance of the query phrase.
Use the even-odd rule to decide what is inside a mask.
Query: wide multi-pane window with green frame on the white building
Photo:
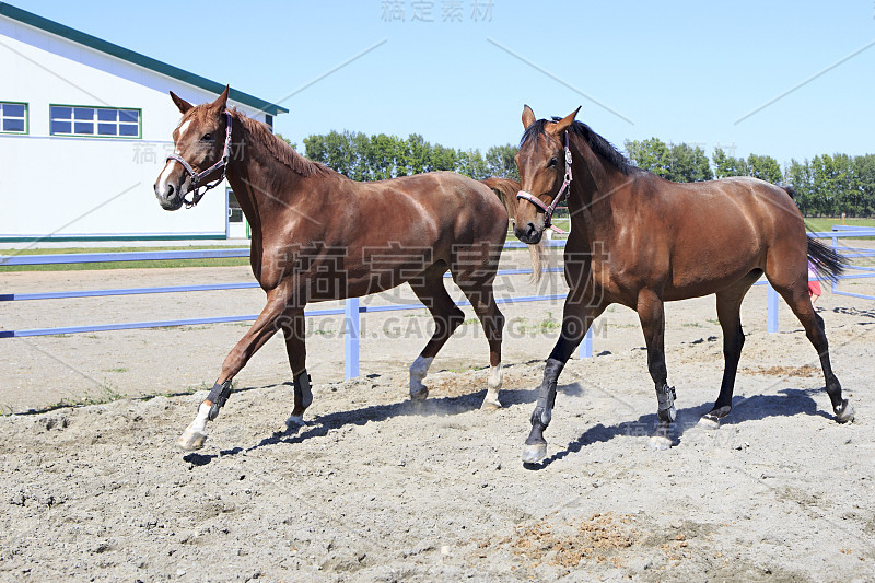
[[[51,105],[52,136],[140,138],[140,109]]]

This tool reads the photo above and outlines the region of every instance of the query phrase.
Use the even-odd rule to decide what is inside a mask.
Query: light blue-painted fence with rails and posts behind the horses
[[[838,240],[845,237],[859,238],[862,236],[875,236],[875,229],[873,228],[859,228],[836,225],[833,231],[810,233],[809,236],[816,238],[831,238],[832,246],[838,247]],[[563,240],[549,241],[547,244],[551,247],[563,247],[565,242]],[[511,242],[504,245],[505,249],[524,248],[526,245],[523,243]],[[849,258],[858,257],[875,257],[875,249],[865,247],[844,247],[842,253]],[[89,263],[121,263],[121,261],[159,261],[159,260],[179,260],[179,259],[225,259],[225,258],[243,258],[249,256],[248,248],[230,248],[230,249],[187,249],[187,250],[171,250],[171,252],[124,252],[124,253],[82,253],[82,254],[50,254],[50,255],[14,255],[14,256],[0,256],[0,266],[35,266],[35,265],[63,265],[63,264],[89,264]],[[861,279],[875,277],[875,268],[871,267],[853,267],[854,270],[865,271],[864,273],[843,275],[840,279]],[[562,268],[552,268],[549,271],[562,271]],[[526,275],[532,273],[530,269],[505,269],[500,270],[498,275]],[[446,273],[444,277],[451,277]],[[765,279],[758,281],[756,285],[768,285]],[[136,294],[151,294],[151,293],[179,293],[179,292],[194,292],[194,291],[221,291],[221,290],[240,290],[258,288],[256,282],[232,282],[232,283],[213,283],[203,285],[172,285],[172,287],[152,287],[152,288],[121,288],[121,289],[106,289],[106,290],[81,290],[81,291],[61,291],[61,292],[39,292],[39,293],[5,293],[0,294],[0,302],[11,301],[32,301],[32,300],[60,300],[71,298],[100,298],[110,295],[136,295]],[[778,331],[778,293],[768,285],[768,310],[767,310],[767,329],[769,333]],[[832,293],[838,295],[847,295],[852,298],[862,298],[875,300],[875,296],[863,295],[851,292],[843,292],[838,290],[838,283],[833,283]],[[518,298],[502,298],[497,299],[497,303],[521,303],[521,302],[537,302],[549,300],[562,300],[565,294],[552,295],[527,295]],[[456,305],[464,306],[470,305],[469,302],[457,302]],[[346,323],[343,326],[345,331],[345,352],[346,352],[346,374],[347,377],[358,376],[359,363],[359,316],[364,313],[388,312],[400,310],[421,310],[424,304],[389,304],[389,305],[361,305],[358,298],[346,300],[345,307],[327,308],[327,310],[311,310],[305,311],[306,316],[329,316],[329,315],[343,315]],[[142,328],[159,328],[170,326],[194,326],[203,324],[222,324],[234,322],[252,322],[257,318],[257,314],[245,314],[236,316],[218,316],[207,318],[188,318],[188,319],[174,319],[174,320],[154,320],[154,322],[128,322],[119,324],[102,324],[102,325],[88,325],[88,326],[68,326],[56,328],[33,328],[22,330],[0,330],[0,338],[21,338],[32,336],[49,336],[49,335],[67,335],[80,333],[95,333],[95,331],[113,331],[126,329],[142,329]],[[592,328],[587,331],[584,341],[581,343],[580,354],[582,358],[592,355],[593,351],[593,337]],[[354,373],[354,374],[353,374]]]

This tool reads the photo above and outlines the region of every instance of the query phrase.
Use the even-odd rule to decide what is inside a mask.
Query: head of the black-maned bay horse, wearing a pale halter
[[[514,234],[523,243],[540,242],[559,198],[571,184],[571,162],[565,129],[574,121],[580,107],[558,121],[535,120],[535,113],[523,108],[523,140],[516,153],[520,167],[520,203],[514,217]],[[564,185],[564,186],[563,186]]]

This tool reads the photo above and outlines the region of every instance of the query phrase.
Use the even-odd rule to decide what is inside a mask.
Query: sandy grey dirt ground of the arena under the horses
[[[525,260],[506,253],[502,268]],[[0,275],[4,293],[250,280],[247,268]],[[875,282],[841,289],[875,294]],[[565,291],[558,275],[538,289],[505,277],[497,290]],[[430,334],[424,310],[363,315],[361,376],[346,382],[340,317],[308,318],[308,424],[282,431],[291,378],[275,338],[195,454],[174,443],[245,325],[0,340],[0,408],[14,413],[0,417],[0,580],[875,581],[875,305],[825,292],[854,423],[833,421],[817,355],[786,305],[780,333],[766,333],[756,287],[734,410],[716,431],[696,428],[723,366],[713,298],[666,306],[679,417],[675,446],[650,451],[656,399],[643,337],[635,314],[616,306],[596,323],[596,355],[574,358],[560,377],[537,468],[520,455],[561,301],[501,306],[498,411],[479,410],[487,346],[469,308],[421,405],[407,397],[407,366]],[[5,302],[0,324],[261,305],[259,290]],[[88,403],[97,404],[65,406]]]

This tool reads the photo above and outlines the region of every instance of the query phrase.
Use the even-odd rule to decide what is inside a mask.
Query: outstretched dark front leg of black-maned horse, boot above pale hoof
[[[594,300],[592,295],[587,295],[582,299],[580,291],[572,289],[569,292],[562,314],[562,333],[544,366],[544,381],[538,392],[538,401],[535,410],[532,411],[532,431],[523,447],[524,464],[537,464],[547,456],[547,440],[544,439],[544,431],[552,418],[559,373],[562,372],[565,362],[583,340],[593,320],[605,311],[605,307],[607,307],[607,303],[604,303],[600,298]]]

